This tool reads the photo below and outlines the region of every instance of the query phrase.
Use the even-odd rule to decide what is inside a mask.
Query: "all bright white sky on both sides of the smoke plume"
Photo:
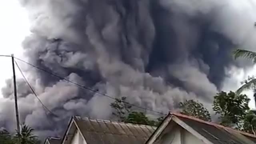
[[[20,6],[18,0],[1,0],[0,18],[0,55],[14,54],[16,57],[23,58],[21,44],[24,38],[30,34],[30,24],[26,10]],[[5,85],[5,80],[12,77],[11,58],[0,57],[0,65],[0,88],[2,88]],[[240,82],[248,75],[253,75],[254,72],[256,72],[256,66],[248,71],[242,69],[229,70],[228,73],[232,77],[226,78],[223,90],[236,90],[240,86]],[[20,75],[18,70],[16,70],[16,73],[18,76]],[[247,91],[245,94],[252,98],[252,92]],[[0,100],[3,100],[1,94]],[[250,107],[255,107],[253,100],[250,102]]]

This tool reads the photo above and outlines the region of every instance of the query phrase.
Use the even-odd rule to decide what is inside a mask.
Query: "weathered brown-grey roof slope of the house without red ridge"
[[[144,144],[156,127],[74,116],[87,144]]]

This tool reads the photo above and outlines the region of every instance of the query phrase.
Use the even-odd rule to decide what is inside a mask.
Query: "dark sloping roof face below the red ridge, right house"
[[[178,117],[213,144],[248,144],[248,140],[250,142],[256,142],[256,136],[246,132],[234,130],[212,122],[205,122],[198,118],[182,114],[172,115]]]

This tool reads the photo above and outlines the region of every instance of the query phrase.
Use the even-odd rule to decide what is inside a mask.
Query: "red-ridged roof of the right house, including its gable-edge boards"
[[[158,138],[170,122],[176,122],[178,125],[191,132],[196,137],[205,138],[210,144],[254,144],[256,136],[229,127],[222,126],[213,122],[206,122],[198,118],[186,116],[184,114],[170,112],[164,119],[164,122],[150,136],[146,144],[159,140]],[[167,125],[166,125],[167,124]],[[185,126],[186,125],[186,126]],[[199,138],[198,137],[198,138]]]

